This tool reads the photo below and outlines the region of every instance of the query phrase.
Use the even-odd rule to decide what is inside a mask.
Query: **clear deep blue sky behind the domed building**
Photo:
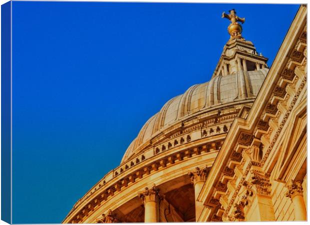
[[[222,11],[271,65],[298,7],[14,1],[13,223],[61,222],[151,115],[209,80]]]

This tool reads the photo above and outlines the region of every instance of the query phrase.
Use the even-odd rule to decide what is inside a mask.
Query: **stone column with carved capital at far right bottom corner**
[[[295,220],[298,221],[307,220],[307,213],[302,195],[303,190],[301,181],[292,180],[291,184],[287,186],[287,189],[288,190],[285,196],[289,197],[294,205]]]

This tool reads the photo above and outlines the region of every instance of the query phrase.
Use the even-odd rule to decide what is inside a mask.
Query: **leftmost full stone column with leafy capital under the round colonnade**
[[[144,203],[144,222],[159,222],[159,189],[156,185],[153,184],[151,188],[145,187],[138,195]]]

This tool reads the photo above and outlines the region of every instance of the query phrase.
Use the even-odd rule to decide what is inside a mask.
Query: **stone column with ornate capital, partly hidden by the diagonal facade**
[[[196,167],[195,171],[188,172],[188,175],[190,176],[191,181],[194,185],[196,221],[198,221],[198,218],[204,207],[201,201],[197,201],[197,198],[206,180],[208,172],[209,172],[209,169],[206,166],[203,169]]]

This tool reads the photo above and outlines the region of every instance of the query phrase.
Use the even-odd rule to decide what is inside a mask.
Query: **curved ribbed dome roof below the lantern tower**
[[[267,68],[262,68],[244,73],[244,75],[247,74],[249,84],[248,97],[257,95],[267,71]],[[128,146],[121,162],[138,153],[136,150],[140,145],[158,135],[160,133],[158,131],[167,128],[172,123],[187,119],[205,109],[244,100],[239,97],[238,89],[238,73],[233,73],[215,76],[208,82],[192,85],[183,94],[171,98],[159,112],[146,121],[137,137]]]

